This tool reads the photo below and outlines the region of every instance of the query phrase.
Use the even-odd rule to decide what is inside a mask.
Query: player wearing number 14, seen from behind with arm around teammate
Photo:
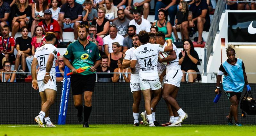
[[[150,44],[148,32],[140,31],[139,40],[141,46],[137,47],[132,54],[131,69],[135,71],[135,65],[138,61],[140,65],[139,77],[140,77],[140,88],[143,93],[145,101],[145,109],[149,120],[149,126],[155,126],[152,120],[152,109],[156,106],[158,101],[161,99],[161,83],[159,81],[157,72],[157,59],[160,51],[172,51],[172,41],[167,40],[168,46]],[[151,103],[150,90],[154,91],[154,98]],[[159,93],[160,92],[160,93]],[[160,94],[160,95],[159,95]],[[152,107],[152,108],[151,108]]]

